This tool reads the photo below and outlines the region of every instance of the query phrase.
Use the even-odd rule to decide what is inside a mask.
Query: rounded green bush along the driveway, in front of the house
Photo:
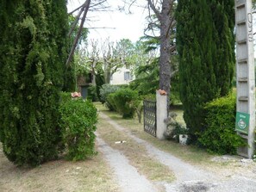
[[[114,108],[122,115],[122,118],[134,117],[135,108],[139,104],[138,93],[128,88],[116,90],[108,97],[109,102],[114,103]]]

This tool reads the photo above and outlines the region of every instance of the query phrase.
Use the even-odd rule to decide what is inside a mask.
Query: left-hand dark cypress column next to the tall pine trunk
[[[206,0],[180,0],[177,8],[180,96],[184,121],[196,136],[203,123],[202,108],[218,90],[214,73],[214,26]]]

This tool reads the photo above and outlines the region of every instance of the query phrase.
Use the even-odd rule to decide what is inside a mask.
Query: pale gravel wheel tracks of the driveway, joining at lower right
[[[203,191],[256,191],[256,180],[247,178],[244,174],[232,175],[230,177],[220,177],[214,172],[202,170],[194,165],[185,163],[183,160],[174,157],[168,152],[163,152],[152,146],[147,141],[136,137],[128,129],[121,127],[115,121],[112,121],[107,115],[100,113],[100,118],[108,122],[116,130],[126,133],[140,145],[147,149],[150,157],[156,158],[161,164],[165,164],[170,170],[174,171],[177,180],[174,183],[162,183],[164,190],[154,189],[153,183],[146,177],[138,174],[136,169],[128,162],[128,158],[121,152],[113,150],[103,139],[98,139],[101,144],[99,150],[103,152],[109,165],[114,170],[116,179],[121,186],[122,191],[167,191],[167,192],[203,192]],[[125,176],[124,176],[125,175]]]

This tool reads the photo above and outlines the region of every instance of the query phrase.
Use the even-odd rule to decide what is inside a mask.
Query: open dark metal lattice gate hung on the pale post
[[[144,100],[144,131],[156,137],[156,102]]]

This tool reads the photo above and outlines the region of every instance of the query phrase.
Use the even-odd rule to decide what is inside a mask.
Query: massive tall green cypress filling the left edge
[[[58,153],[66,60],[66,0],[1,0],[0,140],[15,164]]]

